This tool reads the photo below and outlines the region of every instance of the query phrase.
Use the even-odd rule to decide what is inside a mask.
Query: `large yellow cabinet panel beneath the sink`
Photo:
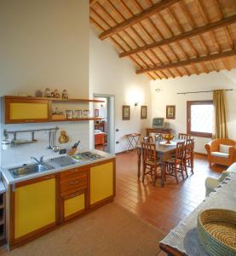
[[[55,223],[55,178],[15,189],[14,238]]]

